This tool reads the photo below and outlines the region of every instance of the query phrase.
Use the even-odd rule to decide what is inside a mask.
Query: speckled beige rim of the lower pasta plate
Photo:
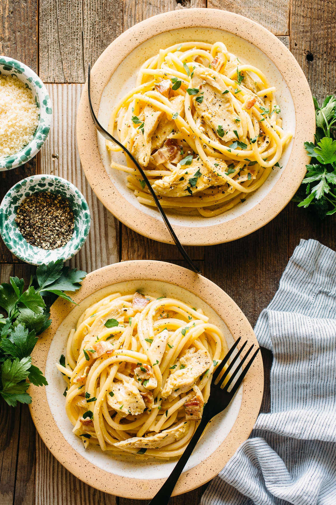
[[[141,272],[141,275],[139,273]],[[233,338],[239,336],[248,344],[258,342],[246,317],[235,302],[216,284],[183,267],[160,261],[127,261],[100,268],[87,275],[82,287],[73,299],[79,303],[99,289],[128,280],[156,280],[183,287],[204,300],[228,326]],[[45,371],[51,340],[73,306],[57,298],[51,306],[51,326],[39,337],[32,353],[33,364]],[[259,354],[248,371],[243,383],[243,395],[238,417],[229,435],[220,447],[206,460],[185,472],[174,489],[174,495],[185,493],[201,486],[215,477],[234,455],[239,445],[250,435],[259,413],[263,393],[263,366]],[[31,385],[30,412],[43,442],[52,455],[72,474],[103,492],[126,498],[152,498],[165,479],[143,480],[111,474],[86,460],[63,437],[50,412],[46,391]]]

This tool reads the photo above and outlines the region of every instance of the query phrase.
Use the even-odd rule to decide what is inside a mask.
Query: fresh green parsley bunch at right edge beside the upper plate
[[[315,143],[305,142],[311,164],[293,198],[298,207],[311,208],[323,219],[336,212],[336,97],[329,95],[321,107],[313,97],[316,116]],[[308,195],[308,196],[306,196]]]

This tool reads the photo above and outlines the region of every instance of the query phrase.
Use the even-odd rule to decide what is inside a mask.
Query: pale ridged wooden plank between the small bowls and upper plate
[[[76,144],[76,114],[83,85],[47,84],[47,88],[53,122],[49,138],[41,150],[41,173],[68,179],[84,194],[91,212],[91,229],[83,248],[71,259],[70,265],[92,272],[119,261],[118,222],[100,203],[81,167]]]

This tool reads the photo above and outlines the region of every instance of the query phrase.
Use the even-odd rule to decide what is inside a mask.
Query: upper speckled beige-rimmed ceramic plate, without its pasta
[[[276,88],[283,129],[293,134],[265,182],[223,214],[204,217],[196,210],[166,208],[182,244],[209,245],[257,230],[288,204],[306,173],[309,159],[303,143],[314,138],[315,115],[304,73],[275,35],[232,12],[183,9],[138,23],[117,37],[99,57],[91,70],[91,99],[101,125],[107,129],[114,106],[135,87],[140,66],[147,59],[157,55],[160,48],[189,41],[222,41],[239,61],[261,70]],[[141,203],[141,198],[126,187],[129,174],[110,167],[112,159],[115,164],[125,165],[125,157],[121,153],[111,156],[105,139],[97,133],[89,111],[87,85],[79,107],[77,140],[85,175],[103,205],[129,228],[171,243],[157,209]]]

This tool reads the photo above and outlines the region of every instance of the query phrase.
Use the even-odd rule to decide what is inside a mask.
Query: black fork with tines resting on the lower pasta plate
[[[174,470],[169,475],[166,482],[163,484],[161,489],[156,493],[156,495],[149,502],[148,505],[167,505],[167,503],[170,499],[171,493],[173,492],[173,489],[175,487],[175,484],[178,481],[178,478],[181,475],[183,468],[185,467],[185,464],[191,455],[191,452],[193,451],[201,434],[204,432],[204,429],[206,428],[207,424],[214,416],[216,416],[217,414],[219,414],[220,412],[222,412],[224,409],[226,409],[228,407],[232,398],[236,394],[240,384],[243,382],[243,379],[244,379],[245,375],[247,374],[250,366],[252,365],[254,358],[256,357],[256,355],[259,352],[259,347],[258,347],[257,350],[252,355],[252,357],[250,358],[249,362],[246,364],[245,368],[242,370],[243,364],[247,360],[252,348],[254,347],[254,344],[252,344],[251,347],[248,349],[245,356],[242,358],[240,363],[238,363],[237,367],[230,375],[228,381],[223,386],[225,379],[227,378],[227,376],[230,373],[230,371],[232,370],[234,364],[238,360],[240,352],[242,352],[242,350],[246,347],[247,340],[242,345],[240,351],[236,354],[236,356],[234,356],[234,358],[232,359],[228,368],[221,375],[221,372],[223,371],[224,366],[231,358],[231,356],[232,356],[232,354],[233,354],[234,350],[236,349],[239,342],[240,342],[240,337],[238,338],[238,340],[236,340],[236,342],[230,348],[227,355],[224,357],[222,363],[220,365],[218,365],[217,369],[215,370],[215,372],[213,374],[213,381],[211,384],[211,389],[210,389],[210,396],[209,396],[209,399],[208,399],[206,406],[204,408],[202,419],[201,419],[195,433],[191,437],[190,442],[186,446],[182,456],[180,457],[180,459],[176,463]],[[239,377],[237,378],[236,382],[233,384],[231,391],[229,392],[229,388],[240,370],[242,370],[242,372],[239,375]],[[217,384],[216,384],[216,382],[217,382]]]

